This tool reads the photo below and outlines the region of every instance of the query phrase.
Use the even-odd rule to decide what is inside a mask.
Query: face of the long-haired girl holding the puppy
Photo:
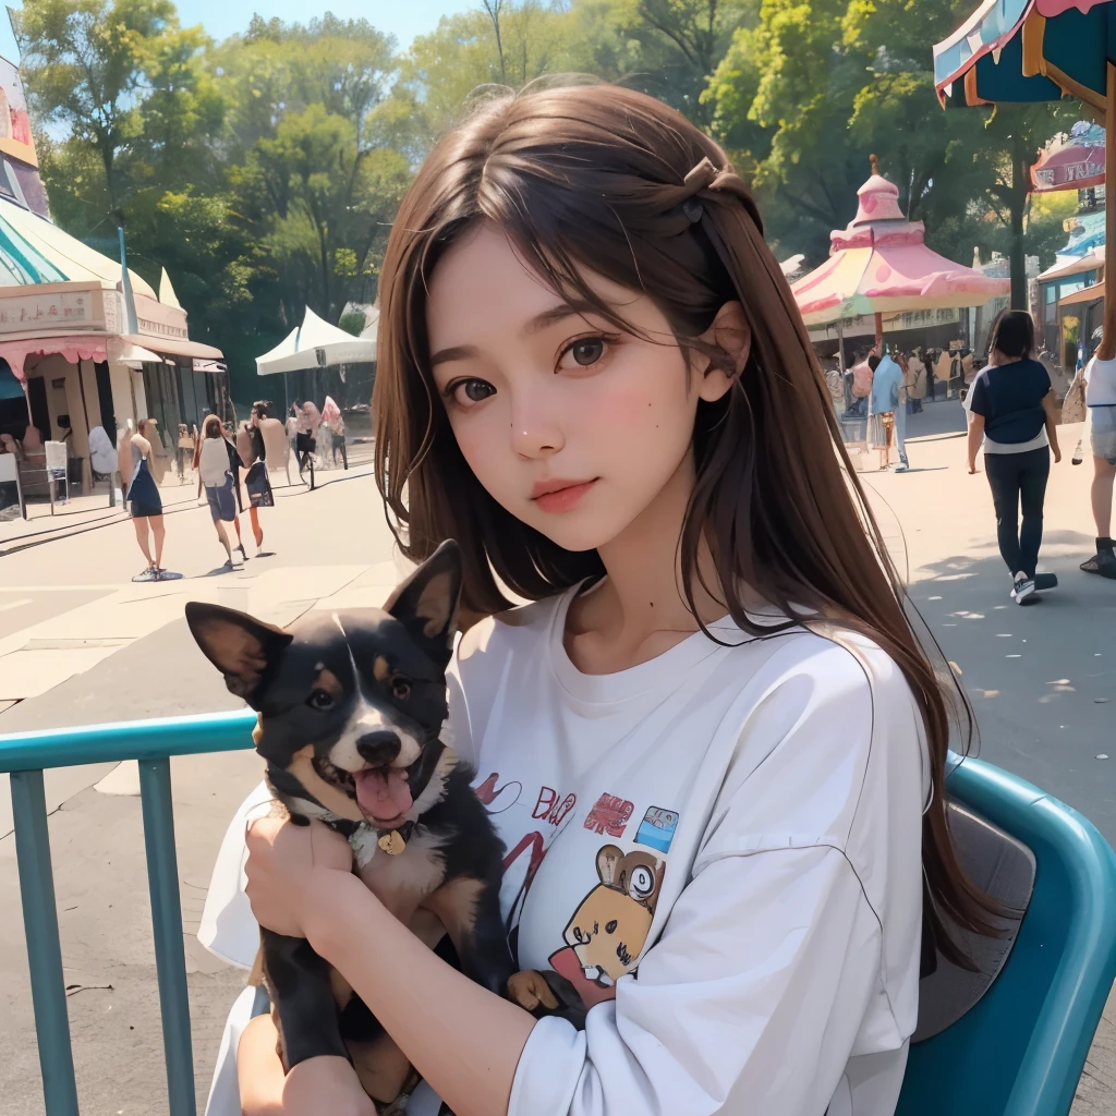
[[[567,550],[606,546],[683,474],[699,400],[723,373],[687,371],[650,298],[586,273],[638,335],[571,307],[504,234],[479,225],[434,270],[432,371],[461,452],[498,503]]]

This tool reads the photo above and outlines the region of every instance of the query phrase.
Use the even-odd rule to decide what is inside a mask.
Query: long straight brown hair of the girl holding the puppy
[[[744,609],[748,585],[787,616],[808,620],[812,613],[867,635],[899,665],[931,758],[929,914],[939,945],[962,960],[942,916],[980,932],[992,924],[946,824],[943,684],[904,614],[902,583],[756,203],[724,152],[679,113],[608,86],[528,90],[482,107],[420,170],[383,267],[374,404],[377,483],[403,552],[422,560],[455,538],[465,559],[463,605],[474,616],[509,607],[497,577],[539,599],[604,574],[595,550],[562,549],[484,491],[439,401],[426,286],[446,247],[478,221],[499,225],[561,297],[593,305],[619,328],[632,327],[594,294],[583,269],[645,292],[684,353],[701,349],[727,367],[727,353],[696,338],[725,302],[743,305],[752,338],[747,367],[721,401],[698,411],[696,482],[680,540],[686,600],[696,615],[704,539],[719,580],[706,588],[723,596],[744,632],[770,633]]]

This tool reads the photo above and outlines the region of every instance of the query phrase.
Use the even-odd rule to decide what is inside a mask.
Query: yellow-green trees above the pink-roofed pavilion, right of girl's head
[[[734,32],[706,99],[781,250],[824,258],[875,152],[932,247],[961,261],[974,246],[1009,250],[1012,297],[1026,305],[1029,170],[1067,109],[943,112],[927,45],[968,10],[968,0],[763,0],[758,25]]]

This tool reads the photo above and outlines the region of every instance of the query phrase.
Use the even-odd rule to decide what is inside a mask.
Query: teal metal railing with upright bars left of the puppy
[[[171,1116],[195,1116],[186,959],[182,943],[179,864],[174,852],[171,757],[251,748],[254,724],[256,715],[251,712],[218,713],[0,737],[0,773],[7,771],[11,777],[16,859],[47,1116],[78,1116],[78,1099],[50,867],[44,770],[124,760],[140,763]]]

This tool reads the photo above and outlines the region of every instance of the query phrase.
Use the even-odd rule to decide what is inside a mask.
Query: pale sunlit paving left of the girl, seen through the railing
[[[0,557],[0,733],[238,708],[193,646],[181,618],[187,599],[228,600],[278,623],[319,602],[378,604],[398,575],[371,478],[353,471],[321,480],[312,493],[277,491],[277,507],[262,520],[275,556],[233,575],[210,576],[223,554],[204,508],[167,518],[166,564],[185,575],[181,581],[131,583],[143,562],[127,522]],[[244,974],[213,959],[193,934],[224,828],[260,764],[244,752],[189,757],[172,769],[201,1110],[224,1013]],[[83,1114],[95,1116],[166,1112],[137,789],[129,766],[47,775],[78,1088]],[[39,1116],[18,898],[3,786],[0,1114]]]

